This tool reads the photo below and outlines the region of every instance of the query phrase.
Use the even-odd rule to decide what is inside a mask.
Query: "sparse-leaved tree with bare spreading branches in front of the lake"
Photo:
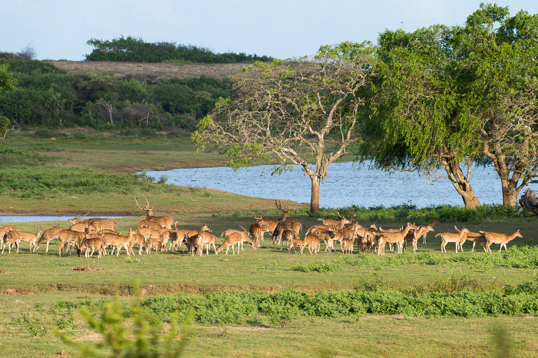
[[[257,62],[232,77],[232,98],[217,102],[192,139],[199,150],[225,148],[234,170],[255,158],[277,163],[278,173],[301,165],[312,181],[315,213],[327,167],[360,139],[357,121],[372,65],[369,43],[322,46],[313,58]]]

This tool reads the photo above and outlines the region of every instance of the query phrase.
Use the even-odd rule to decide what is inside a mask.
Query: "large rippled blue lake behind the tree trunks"
[[[269,199],[289,199],[310,202],[310,178],[303,176],[301,166],[282,175],[271,176],[272,165],[253,166],[237,172],[229,167],[173,169],[147,171],[148,176],[168,177],[169,184],[221,189],[224,191]],[[390,207],[412,203],[418,207],[430,205],[463,205],[461,195],[448,179],[428,184],[427,178],[416,173],[396,172],[387,175],[381,170],[369,170],[353,162],[332,163],[329,177],[320,185],[321,207],[378,206]],[[260,174],[263,174],[260,176]],[[440,172],[440,175],[445,173]],[[434,177],[435,178],[435,177]],[[501,184],[493,167],[473,167],[471,186],[480,203],[502,203]],[[530,184],[538,191],[538,184]],[[523,190],[521,193],[523,193]]]

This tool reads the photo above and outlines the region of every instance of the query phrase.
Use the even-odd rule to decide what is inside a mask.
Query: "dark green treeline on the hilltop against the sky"
[[[270,61],[271,57],[245,53],[214,53],[194,45],[175,43],[146,43],[141,38],[128,36],[112,40],[90,39],[94,50],[86,55],[87,61],[163,62],[189,61],[202,64],[231,64],[245,61]]]

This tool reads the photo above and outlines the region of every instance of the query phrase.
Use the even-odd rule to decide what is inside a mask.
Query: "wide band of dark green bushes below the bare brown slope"
[[[158,79],[73,73],[48,62],[0,53],[0,65],[4,64],[17,85],[14,92],[0,97],[0,114],[17,126],[191,131],[220,96],[230,95],[228,80],[206,76]]]

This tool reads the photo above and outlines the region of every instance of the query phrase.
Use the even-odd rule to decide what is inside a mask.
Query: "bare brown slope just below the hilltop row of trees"
[[[146,64],[143,62],[48,61],[65,71],[112,72],[118,76],[144,74],[156,78],[187,78],[206,75],[227,78],[250,64]]]

